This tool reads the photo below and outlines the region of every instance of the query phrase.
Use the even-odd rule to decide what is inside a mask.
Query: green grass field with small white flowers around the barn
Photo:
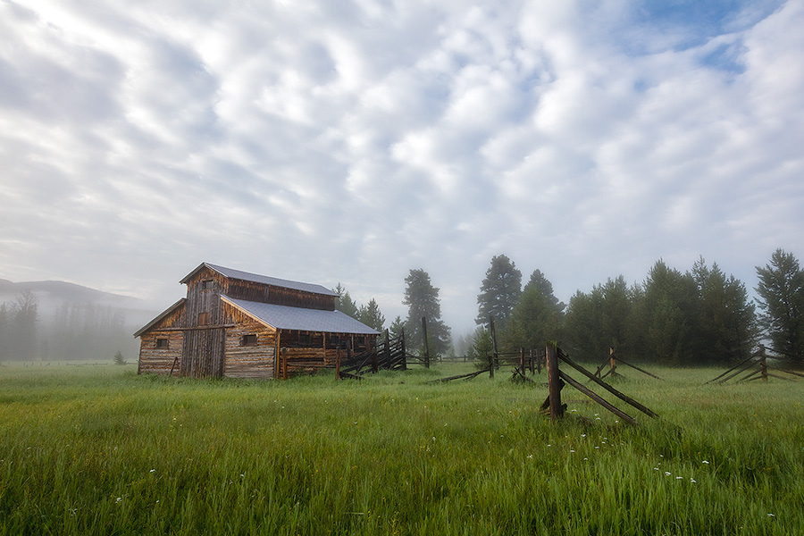
[[[0,366],[0,534],[804,533],[804,381],[624,371],[617,389],[661,415],[617,403],[631,427],[570,388],[550,423],[547,389],[506,371],[425,383],[469,366]]]

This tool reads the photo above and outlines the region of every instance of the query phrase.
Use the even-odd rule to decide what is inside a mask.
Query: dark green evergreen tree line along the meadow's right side
[[[757,267],[756,302],[741,281],[699,258],[681,272],[663,260],[644,281],[622,275],[559,302],[539,270],[522,284],[506,255],[491,259],[478,295],[478,329],[470,355],[490,352],[490,318],[498,350],[540,348],[548,341],[582,359],[599,360],[613,348],[624,358],[669,365],[733,364],[762,340],[783,356],[804,362],[804,272],[791,253],[777,249]]]

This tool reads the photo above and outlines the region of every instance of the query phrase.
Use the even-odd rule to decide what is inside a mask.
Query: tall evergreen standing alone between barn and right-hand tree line
[[[427,318],[427,339],[431,356],[440,356],[449,348],[449,328],[441,320],[439,289],[432,286],[430,274],[411,270],[405,278],[405,299],[408,306],[405,325],[406,347],[409,351],[423,350],[422,318]]]

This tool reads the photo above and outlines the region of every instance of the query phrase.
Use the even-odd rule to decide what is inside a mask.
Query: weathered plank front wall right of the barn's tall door
[[[225,322],[236,324],[226,330],[223,375],[227,378],[272,379],[276,331],[234,307],[223,304],[223,309]],[[255,346],[241,346],[244,335],[255,335]]]

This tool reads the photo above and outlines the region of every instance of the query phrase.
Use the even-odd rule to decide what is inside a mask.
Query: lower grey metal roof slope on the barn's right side
[[[260,302],[221,296],[221,299],[259,322],[278,330],[314,331],[319,333],[355,333],[379,335],[379,331],[340,311],[321,311],[301,307],[274,306]]]

